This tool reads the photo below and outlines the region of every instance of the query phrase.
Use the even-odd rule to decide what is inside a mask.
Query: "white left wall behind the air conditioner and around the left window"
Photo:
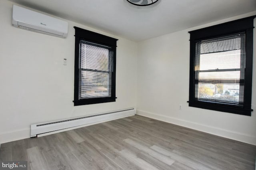
[[[65,39],[15,28],[12,4],[0,0],[0,143],[30,137],[34,123],[136,107],[137,43],[71,21]],[[74,107],[73,26],[119,39],[116,102]]]

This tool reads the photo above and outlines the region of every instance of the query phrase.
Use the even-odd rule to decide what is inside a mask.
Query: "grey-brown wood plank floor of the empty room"
[[[32,170],[255,170],[256,146],[133,116],[1,144]]]

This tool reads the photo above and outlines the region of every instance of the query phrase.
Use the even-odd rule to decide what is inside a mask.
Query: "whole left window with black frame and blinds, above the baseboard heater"
[[[116,39],[75,28],[74,105],[116,101]]]

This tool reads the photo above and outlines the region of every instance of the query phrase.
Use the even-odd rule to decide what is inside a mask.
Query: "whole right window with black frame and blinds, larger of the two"
[[[189,32],[189,106],[251,115],[254,18]]]

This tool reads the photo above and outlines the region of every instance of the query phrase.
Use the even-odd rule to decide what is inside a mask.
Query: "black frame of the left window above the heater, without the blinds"
[[[84,30],[74,26],[75,29],[75,60],[74,60],[74,106],[90,105],[96,103],[107,103],[116,101],[116,42],[118,39],[98,34],[89,30]],[[97,97],[79,99],[79,49],[80,40],[84,40],[99,45],[106,45],[112,48],[112,75],[111,75],[111,97]]]

